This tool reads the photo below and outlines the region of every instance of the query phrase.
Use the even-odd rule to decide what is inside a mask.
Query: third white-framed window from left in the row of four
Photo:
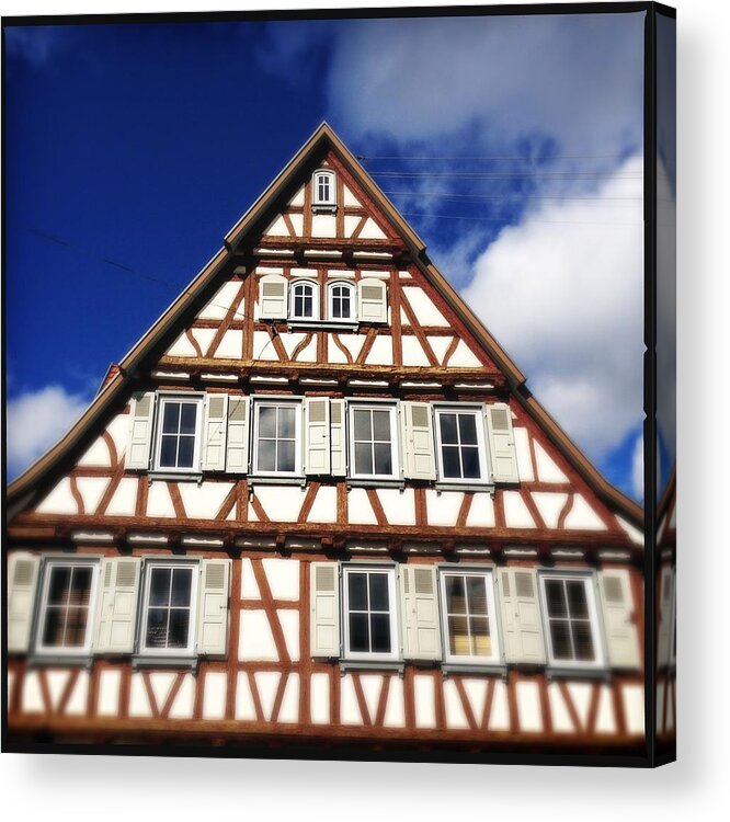
[[[399,477],[396,407],[350,404],[350,464],[355,478]]]

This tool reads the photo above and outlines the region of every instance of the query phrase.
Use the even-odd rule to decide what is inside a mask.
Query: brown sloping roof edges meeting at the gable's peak
[[[293,226],[290,220],[287,225],[287,220],[284,219],[277,222],[280,220],[277,215],[284,206],[296,202],[301,189],[303,176],[310,173],[322,161],[332,163],[345,178],[349,192],[349,195],[345,196],[352,197],[355,203],[366,203],[370,212],[384,216],[383,220],[378,220],[376,217],[375,222],[377,225],[372,229],[372,240],[401,244],[408,250],[409,256],[417,267],[414,276],[419,279],[422,278],[424,284],[435,289],[448,309],[457,315],[468,335],[476,340],[486,353],[486,362],[489,362],[490,365],[494,364],[504,374],[513,395],[536,421],[537,425],[545,431],[558,449],[605,502],[618,509],[632,523],[641,523],[643,518],[641,507],[613,488],[598,473],[555,420],[532,397],[524,385],[524,375],[456,290],[431,263],[421,238],[401,217],[396,207],[326,123],[315,132],[259,199],[230,229],[224,239],[224,248],[212,258],[187,288],[125,355],[119,363],[118,370],[116,373],[110,372],[99,395],[77,424],[59,443],[9,486],[8,499],[13,507],[15,510],[23,507],[28,500],[28,495],[33,495],[34,488],[47,479],[48,473],[64,459],[65,455],[77,447],[88,432],[98,427],[100,421],[104,419],[114,403],[132,390],[130,383],[137,368],[159,350],[161,341],[169,340],[172,342],[175,339],[175,326],[182,328],[186,317],[204,310],[206,301],[209,301],[212,295],[216,293],[216,284],[219,285],[219,274],[224,270],[230,270],[235,261],[240,258],[241,250],[247,248],[247,243],[249,246],[255,243],[266,232],[269,232],[269,237],[275,237],[276,231],[282,231],[282,237],[288,238],[287,241],[296,236],[296,225]],[[380,233],[386,236],[385,239],[380,238]],[[406,321],[408,322],[408,317],[406,317]]]

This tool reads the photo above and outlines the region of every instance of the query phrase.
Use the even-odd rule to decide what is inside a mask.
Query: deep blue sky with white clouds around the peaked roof
[[[322,119],[640,477],[642,14],[5,28],[10,477]]]

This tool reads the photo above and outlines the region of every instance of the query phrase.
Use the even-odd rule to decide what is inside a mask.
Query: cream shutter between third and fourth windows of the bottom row
[[[401,566],[398,579],[403,620],[403,659],[440,660],[436,569],[433,566]]]

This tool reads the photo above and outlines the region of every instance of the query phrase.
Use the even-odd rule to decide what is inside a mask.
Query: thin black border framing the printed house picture
[[[254,742],[231,743],[224,746],[197,744],[118,744],[118,743],[62,743],[25,741],[10,739],[8,733],[8,682],[2,677],[0,694],[2,698],[2,752],[3,753],[43,753],[43,754],[79,754],[114,756],[202,756],[209,758],[265,758],[265,760],[309,760],[309,761],[356,761],[356,762],[429,762],[459,764],[514,764],[514,765],[580,765],[597,767],[655,767],[675,758],[675,750],[662,750],[658,755],[655,746],[655,649],[653,647],[655,624],[655,596],[653,584],[655,573],[655,536],[657,536],[657,369],[655,369],[655,309],[657,309],[657,14],[676,19],[675,9],[657,2],[595,2],[595,3],[531,3],[525,5],[454,5],[454,7],[398,7],[370,9],[303,9],[303,10],[259,10],[250,12],[164,12],[164,13],[128,13],[128,14],[69,14],[69,15],[30,15],[5,16],[1,21],[3,31],[1,55],[5,65],[5,27],[13,26],[49,26],[49,25],[102,25],[102,24],[173,24],[173,23],[226,23],[226,22],[264,22],[285,20],[367,20],[397,18],[441,18],[441,16],[498,16],[533,14],[614,14],[646,12],[645,20],[645,711],[646,711],[646,750],[637,744],[636,755],[630,754],[581,754],[568,749],[550,753],[536,752],[529,743],[517,743],[514,751],[482,751],[465,753],[458,745],[432,746],[430,750],[418,750],[415,745],[383,746],[378,751],[366,750],[352,743],[337,744],[334,741],[323,750],[317,744],[282,744],[281,746],[262,747]],[[3,73],[2,82],[2,149],[1,162],[5,168],[5,124],[7,84]],[[0,298],[2,309],[2,340],[5,342],[5,272],[7,272],[7,184],[2,184],[2,277]],[[3,351],[4,353],[4,351]],[[7,374],[3,356],[0,386],[3,407],[7,407]],[[7,494],[7,426],[2,430],[2,482],[3,500]],[[8,522],[2,521],[2,558],[8,552]],[[7,574],[2,582],[2,609],[5,613]],[[8,667],[7,624],[2,620],[2,665]],[[142,732],[140,731],[140,734]],[[524,750],[523,750],[524,745]]]

